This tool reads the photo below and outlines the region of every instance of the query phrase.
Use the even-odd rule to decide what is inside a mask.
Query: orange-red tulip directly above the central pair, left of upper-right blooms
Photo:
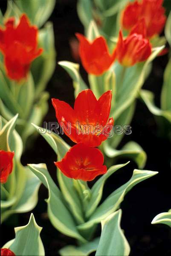
[[[110,55],[105,39],[100,36],[89,42],[84,35],[76,34],[79,44],[79,55],[84,69],[89,74],[102,75],[115,60],[115,52]]]

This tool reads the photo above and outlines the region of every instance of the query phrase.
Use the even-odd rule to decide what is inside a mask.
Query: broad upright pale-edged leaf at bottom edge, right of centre
[[[128,256],[130,246],[120,227],[122,210],[112,213],[106,219],[101,221],[101,237],[96,256]]]

